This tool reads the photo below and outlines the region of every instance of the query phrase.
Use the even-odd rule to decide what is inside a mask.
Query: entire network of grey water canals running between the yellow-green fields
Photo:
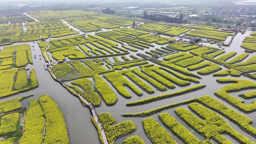
[[[27,15],[27,14],[25,14],[25,15]],[[64,20],[62,20],[62,21],[65,24],[67,24],[70,28],[73,28],[74,30],[79,31],[77,28],[69,25]],[[103,29],[103,31],[108,31],[108,30]],[[250,33],[251,33],[251,31],[246,31],[245,34],[241,34],[241,33],[237,34],[237,36],[235,36],[231,45],[229,47],[224,47],[226,53],[232,52],[232,51],[237,52],[238,55],[243,53],[244,49],[241,48],[240,45],[241,45],[242,40],[244,39],[244,37],[248,36]],[[80,32],[80,34],[95,34],[95,32],[90,32],[90,33]],[[50,38],[50,39],[56,39],[56,38]],[[68,129],[68,135],[69,135],[69,138],[70,138],[70,144],[100,144],[100,141],[98,140],[97,131],[94,128],[94,126],[92,125],[91,114],[89,113],[88,108],[84,108],[82,106],[82,104],[80,103],[78,98],[71,95],[67,90],[65,90],[60,85],[60,83],[55,82],[52,79],[49,72],[44,70],[43,66],[46,64],[46,62],[43,60],[42,56],[41,56],[42,60],[39,59],[40,58],[39,55],[42,55],[42,53],[40,51],[39,46],[37,45],[37,42],[38,41],[35,41],[34,43],[33,42],[15,43],[13,45],[29,44],[31,46],[31,53],[32,53],[32,56],[33,56],[33,65],[29,64],[29,65],[27,65],[26,68],[30,68],[30,69],[34,68],[35,69],[36,76],[37,76],[37,79],[38,79],[38,82],[39,82],[39,87],[36,88],[36,89],[33,89],[31,91],[28,91],[28,92],[23,92],[23,93],[20,93],[20,94],[16,94],[16,95],[12,95],[12,96],[9,96],[9,97],[6,97],[6,98],[2,98],[2,99],[0,99],[0,101],[5,101],[5,100],[11,99],[11,98],[17,98],[17,97],[24,96],[24,95],[34,94],[34,96],[31,96],[31,97],[25,99],[22,102],[22,103],[24,103],[23,107],[28,107],[28,101],[30,99],[38,99],[39,96],[48,94],[49,96],[54,98],[55,102],[57,102],[58,106],[60,107],[61,111],[64,114],[65,121],[66,121],[66,124],[67,124],[67,129]],[[199,43],[199,44],[201,44],[201,43]],[[217,47],[217,44],[210,44],[210,43],[202,43],[202,44],[207,45],[207,46],[209,45],[209,46]],[[136,53],[143,53],[144,54],[145,51],[149,51],[150,49],[161,48],[160,45],[156,45],[156,44],[154,44],[154,45],[155,45],[154,48],[150,47],[149,49],[138,50],[138,52],[129,51],[130,53],[128,55],[125,55],[125,56],[127,58],[131,59],[130,55],[137,56]],[[32,48],[32,46],[34,46],[34,48]],[[118,44],[118,46],[121,47],[121,44]],[[166,46],[166,45],[163,45],[163,46]],[[4,46],[1,46],[0,50],[2,50],[3,48],[4,48]],[[34,55],[36,55],[36,59],[34,59]],[[249,59],[253,55],[255,55],[255,54],[254,53],[249,53],[249,57],[244,59],[244,61],[246,61],[247,59]],[[56,62],[56,60],[54,60],[52,58],[51,53],[49,53],[49,56],[53,60],[53,62]],[[120,60],[122,60],[121,56],[117,56],[117,57]],[[139,56],[137,56],[137,57],[140,58]],[[110,57],[109,59],[110,59],[110,61],[115,62],[113,60],[113,58]],[[159,58],[159,59],[163,60],[162,58]],[[149,63],[152,63],[152,62],[149,61]],[[157,65],[157,64],[155,64],[155,65]],[[138,68],[138,66],[136,66],[136,67]],[[132,67],[132,68],[135,68],[135,67]],[[140,68],[138,68],[138,69],[140,70]],[[226,68],[222,66],[222,70],[226,70]],[[197,74],[196,71],[192,71],[192,72]],[[103,78],[102,74],[100,76]],[[162,94],[168,94],[170,92],[180,91],[182,89],[189,88],[191,86],[195,86],[195,85],[198,85],[198,84],[191,83],[191,85],[185,86],[185,87],[178,86],[178,85],[174,84],[176,86],[175,89],[168,89],[167,91],[164,91],[164,92],[157,91],[156,88],[154,88],[152,86],[152,88],[155,91],[154,94],[147,94],[141,88],[138,88],[143,93],[143,96],[135,95],[134,92],[132,92],[129,88],[126,87],[126,89],[129,91],[129,93],[132,95],[132,98],[131,99],[125,99],[121,95],[118,94],[116,89],[113,88],[113,86],[109,82],[106,81],[108,83],[108,85],[110,86],[110,88],[112,88],[113,91],[115,92],[115,94],[117,95],[118,102],[113,106],[107,106],[103,101],[101,101],[101,106],[95,108],[95,110],[97,111],[97,113],[107,112],[107,113],[112,114],[112,116],[115,118],[117,123],[120,123],[120,122],[123,122],[123,121],[126,121],[126,120],[132,120],[132,122],[134,122],[134,124],[137,128],[136,131],[129,134],[129,135],[126,135],[124,137],[118,138],[115,141],[115,144],[121,144],[122,141],[124,141],[126,138],[128,138],[130,136],[133,136],[133,135],[138,135],[139,137],[141,137],[146,144],[151,143],[150,140],[147,138],[147,136],[144,134],[144,130],[143,130],[143,126],[142,126],[142,120],[146,119],[148,117],[122,117],[121,116],[122,114],[124,114],[124,113],[138,113],[138,112],[142,112],[142,111],[146,111],[146,110],[151,110],[153,108],[158,108],[158,107],[162,107],[162,106],[165,106],[165,105],[168,105],[168,104],[182,102],[182,101],[185,101],[185,100],[188,100],[188,99],[192,99],[192,98],[196,98],[196,97],[204,96],[204,95],[210,95],[213,98],[217,99],[218,101],[222,102],[223,104],[227,105],[229,108],[232,108],[233,110],[237,111],[238,113],[241,113],[241,114],[249,117],[250,119],[253,120],[252,126],[254,128],[256,128],[256,124],[255,124],[256,123],[256,115],[255,114],[253,114],[253,113],[251,113],[251,114],[243,113],[242,111],[233,107],[228,102],[223,101],[222,99],[220,99],[219,97],[214,95],[214,92],[220,90],[223,86],[228,85],[228,84],[217,83],[216,79],[220,78],[220,77],[213,77],[212,74],[209,74],[209,75],[206,75],[206,76],[205,75],[200,75],[200,76],[202,77],[202,79],[199,80],[200,81],[199,84],[200,85],[206,85],[206,87],[201,89],[201,90],[189,92],[189,93],[186,93],[186,94],[183,94],[183,95],[180,95],[180,96],[174,96],[172,98],[163,99],[163,100],[155,101],[155,102],[144,104],[144,105],[132,106],[132,107],[127,107],[125,105],[127,104],[127,102],[137,101],[137,100],[149,98],[149,97],[152,97],[152,96],[157,96],[157,95],[162,95]],[[243,77],[243,76],[238,77],[238,78],[227,76],[227,78],[249,79],[249,78]],[[89,78],[89,79],[91,80],[92,88],[94,89],[94,81],[92,80],[92,78]],[[127,78],[127,80],[135,85],[135,83],[133,83],[128,78]],[[249,80],[252,80],[252,79],[249,79]],[[65,82],[65,83],[71,85],[71,81],[70,82]],[[135,85],[135,86],[137,86],[137,85]],[[240,92],[237,92],[237,93],[232,93],[232,95],[238,97],[238,94],[243,94],[243,93],[246,93],[246,92],[249,92],[249,91],[255,91],[255,90],[256,89],[249,89],[249,90],[240,91]],[[250,104],[252,102],[254,102],[254,99],[249,99],[249,100],[245,101],[246,104]],[[184,108],[188,109],[188,105],[181,105],[179,107],[184,107]],[[189,131],[191,131],[196,137],[198,137],[200,140],[204,140],[202,135],[198,134],[193,129],[191,129],[185,122],[183,122],[174,113],[174,110],[176,108],[178,108],[178,107],[171,108],[171,109],[168,109],[168,110],[164,110],[161,113],[166,112],[166,113],[171,114],[171,116],[173,116],[176,120],[178,120],[183,126],[188,128]],[[155,120],[157,120],[157,122],[159,122],[160,125],[163,126],[163,124],[158,119],[159,114],[160,113],[153,114],[152,116],[149,116],[149,117],[153,117]],[[252,140],[253,142],[256,143],[256,138],[255,137],[253,137],[252,135],[243,131],[234,122],[231,122],[226,117],[223,117],[223,118],[226,120],[226,122],[228,122],[232,126],[232,128],[234,128],[236,131],[240,132],[241,134],[245,135],[247,138],[249,138],[250,140]],[[163,126],[163,127],[171,134],[171,136],[179,144],[183,144],[183,142],[181,140],[179,140],[179,138],[176,135],[174,135],[172,132],[170,132],[165,126]],[[232,141],[233,143],[236,142],[236,140],[234,140],[234,138],[229,137],[228,135],[223,134],[223,136],[226,137],[228,140]],[[212,142],[214,143],[214,141],[212,141]]]

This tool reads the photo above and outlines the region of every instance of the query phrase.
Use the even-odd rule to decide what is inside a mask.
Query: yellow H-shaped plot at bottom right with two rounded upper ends
[[[212,112],[208,108],[197,104],[189,104],[188,107],[201,116],[203,120],[193,115],[185,108],[177,108],[176,114],[179,115],[189,126],[196,129],[200,134],[207,139],[213,137],[219,143],[232,144],[227,138],[223,137],[222,131],[225,131],[232,137],[236,138],[240,143],[253,144],[250,139],[235,131],[219,114]]]

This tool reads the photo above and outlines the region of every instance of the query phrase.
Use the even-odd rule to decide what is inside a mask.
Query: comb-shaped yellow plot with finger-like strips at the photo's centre
[[[147,65],[141,66],[141,71],[137,68],[132,68],[129,70],[107,73],[103,76],[113,85],[118,93],[125,98],[131,98],[131,94],[129,94],[125,86],[131,89],[136,95],[142,95],[141,91],[129,82],[127,78],[149,94],[154,93],[154,90],[143,80],[154,86],[159,91],[166,91],[167,88],[174,89],[174,84],[178,86],[188,86],[191,82],[199,82],[195,78],[183,76],[179,73],[168,70],[167,68],[152,65],[148,65],[148,67]]]

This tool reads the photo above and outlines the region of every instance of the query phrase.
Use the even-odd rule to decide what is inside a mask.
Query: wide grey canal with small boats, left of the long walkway
[[[55,82],[50,73],[44,70],[46,62],[43,60],[42,53],[37,42],[26,43],[29,44],[31,48],[34,46],[31,50],[33,65],[27,65],[26,68],[30,68],[30,70],[32,68],[35,69],[39,87],[27,92],[1,98],[0,101],[34,94],[34,96],[25,99],[25,102],[28,103],[30,99],[38,99],[39,96],[48,94],[55,100],[60,110],[63,112],[70,144],[84,144],[85,142],[88,144],[100,144],[100,141],[98,140],[98,133],[91,122],[91,113],[89,112],[89,109],[84,108],[78,98],[71,95],[60,85],[60,83]],[[24,43],[15,43],[13,45],[18,44]],[[3,47],[4,46],[1,46],[0,49],[2,50]],[[36,55],[36,59],[34,59],[34,55]],[[41,57],[39,55],[41,55]],[[39,58],[41,58],[41,60]]]

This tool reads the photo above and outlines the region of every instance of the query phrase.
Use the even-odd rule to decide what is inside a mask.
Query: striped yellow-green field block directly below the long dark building
[[[191,28],[192,27],[167,25],[160,22],[141,24],[137,27],[137,29],[140,30],[161,32],[167,36],[179,36],[180,34],[190,31]]]

